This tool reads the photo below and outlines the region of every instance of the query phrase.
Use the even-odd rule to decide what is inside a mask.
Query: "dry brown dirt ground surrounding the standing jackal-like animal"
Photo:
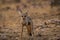
[[[32,18],[34,37],[28,36],[24,27],[21,39],[21,16],[17,5]],[[60,6],[51,8],[49,0],[0,3],[0,40],[60,40]]]

